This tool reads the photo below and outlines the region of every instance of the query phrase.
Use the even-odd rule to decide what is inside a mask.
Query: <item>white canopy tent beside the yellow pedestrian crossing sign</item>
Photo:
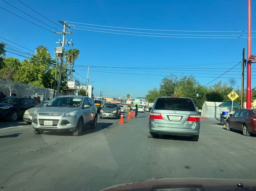
[[[225,111],[228,113],[234,113],[236,110],[239,109],[239,107],[233,106],[233,112],[231,112],[231,106],[222,107],[220,106],[221,104],[223,104],[223,102],[204,102],[202,106],[201,116],[211,117],[211,118],[220,118],[220,114],[222,113],[222,111]]]

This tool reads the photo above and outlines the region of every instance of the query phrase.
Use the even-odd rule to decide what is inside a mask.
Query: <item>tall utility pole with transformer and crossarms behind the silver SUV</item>
[[[60,41],[56,42],[56,43],[60,43],[60,46],[61,46],[61,47],[58,47],[59,48],[59,52],[58,53],[61,54],[61,58],[60,58],[60,71],[59,71],[59,79],[58,79],[56,97],[59,96],[59,94],[60,94],[61,72],[62,72],[62,64],[63,64],[64,50],[65,50],[64,49],[65,43],[67,45],[72,44],[72,46],[73,46],[73,42],[72,41],[70,43],[69,42],[65,42],[65,35],[73,34],[73,32],[69,31],[69,29],[70,29],[69,24],[66,24],[66,21],[59,21],[59,22],[61,24],[63,24],[63,31],[62,32],[55,32],[55,34],[56,35],[63,35],[63,38],[62,38],[62,43]],[[68,29],[68,32],[66,32],[66,28]]]

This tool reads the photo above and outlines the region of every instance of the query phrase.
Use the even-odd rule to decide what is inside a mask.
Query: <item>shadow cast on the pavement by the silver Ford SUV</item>
[[[86,125],[85,127],[83,127],[82,135],[95,133],[95,132],[101,131],[104,128],[111,128],[110,127],[111,125],[113,125],[113,123],[97,123],[97,127],[95,129],[91,129],[89,125]],[[57,135],[57,136],[73,136],[72,132],[45,131],[43,132],[43,134]]]

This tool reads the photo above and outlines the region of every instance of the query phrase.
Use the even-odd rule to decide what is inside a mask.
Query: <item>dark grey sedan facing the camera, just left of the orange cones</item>
[[[100,118],[110,117],[118,119],[120,116],[120,108],[117,103],[105,103],[100,110]]]

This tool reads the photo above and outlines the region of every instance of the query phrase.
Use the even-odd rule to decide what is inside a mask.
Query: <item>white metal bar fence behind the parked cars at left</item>
[[[0,80],[0,92],[4,93],[7,97],[16,94],[16,96],[31,96],[32,98],[39,96],[41,100],[43,100],[43,98],[45,98],[45,100],[53,98],[53,89],[5,80]]]

